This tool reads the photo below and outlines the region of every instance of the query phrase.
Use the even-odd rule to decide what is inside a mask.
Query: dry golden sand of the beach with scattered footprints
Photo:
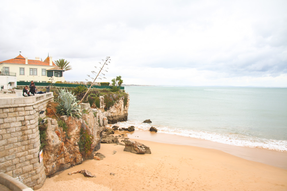
[[[86,160],[58,172],[39,190],[287,190],[286,169],[216,149],[131,140],[149,146],[152,154],[139,155],[123,151],[122,145],[101,144],[97,152],[106,158]],[[68,175],[81,169],[96,178]]]

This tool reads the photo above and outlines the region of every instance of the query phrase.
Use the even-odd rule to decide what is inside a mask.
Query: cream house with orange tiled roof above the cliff
[[[16,76],[20,82],[48,82],[51,77],[53,81],[64,82],[64,70],[61,70],[52,60],[52,56],[48,56],[44,62],[39,57],[35,60],[28,60],[21,54],[16,58],[0,62],[1,75]]]

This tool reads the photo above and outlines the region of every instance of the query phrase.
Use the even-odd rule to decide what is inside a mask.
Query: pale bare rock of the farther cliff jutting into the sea
[[[128,110],[129,110],[129,94],[126,97],[126,104],[125,97],[120,97],[116,103],[111,106],[109,109],[105,111],[105,103],[104,97],[100,96],[100,110],[106,115],[108,118],[109,124],[115,124],[119,121],[127,121]]]

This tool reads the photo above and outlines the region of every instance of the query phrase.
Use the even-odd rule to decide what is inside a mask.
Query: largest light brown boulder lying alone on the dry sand
[[[135,154],[151,154],[150,147],[139,143],[137,141],[122,140],[125,143],[124,151],[135,153]]]

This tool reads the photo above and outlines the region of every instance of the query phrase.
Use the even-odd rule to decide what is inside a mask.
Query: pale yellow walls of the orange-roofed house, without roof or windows
[[[47,77],[47,69],[54,68],[55,66],[39,66],[39,65],[30,65],[30,64],[6,64],[2,63],[0,64],[0,69],[1,72],[4,72],[4,67],[9,67],[9,72],[14,72],[16,73],[17,81],[37,81],[37,82],[42,82],[42,81],[51,81]],[[24,68],[24,75],[20,75],[20,68]],[[37,69],[37,76],[30,75],[30,68],[36,68]],[[42,69],[46,69],[46,76],[42,76]],[[55,77],[53,76],[54,82],[57,81],[65,81],[64,77],[64,72],[62,77]]]

